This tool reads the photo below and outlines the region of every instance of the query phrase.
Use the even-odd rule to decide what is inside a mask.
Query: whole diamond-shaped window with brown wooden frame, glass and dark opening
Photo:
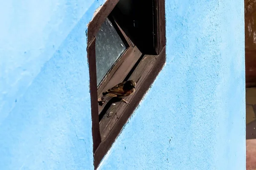
[[[107,0],[88,25],[95,168],[163,68],[164,5],[164,0]],[[130,105],[115,98],[99,105],[102,93],[129,79],[137,83],[134,94],[125,97]]]

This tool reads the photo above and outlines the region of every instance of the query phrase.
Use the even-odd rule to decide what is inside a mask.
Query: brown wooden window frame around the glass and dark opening
[[[91,114],[92,114],[92,134],[93,134],[93,153],[94,167],[98,167],[100,161],[105,156],[114,140],[122,130],[122,127],[131,116],[140,100],[150,88],[157,74],[163,68],[166,61],[165,45],[165,0],[152,0],[154,4],[154,51],[156,54],[142,54],[134,45],[120,26],[109,17],[111,23],[119,32],[122,40],[128,48],[118,61],[108,71],[105,78],[97,87],[96,81],[96,54],[95,41],[96,33],[100,26],[109,16],[119,0],[107,0],[100,8],[93,20],[88,24],[87,29],[87,58],[89,62],[90,74],[90,96],[91,96]],[[108,102],[99,106],[97,99],[102,93],[112,88],[123,80],[133,79],[137,82],[136,91],[133,95],[125,98],[130,105],[123,102]],[[104,112],[99,121],[99,114]]]

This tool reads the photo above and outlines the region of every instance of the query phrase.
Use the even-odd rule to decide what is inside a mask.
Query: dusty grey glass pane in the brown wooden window
[[[108,18],[96,35],[97,85],[127,48]]]

